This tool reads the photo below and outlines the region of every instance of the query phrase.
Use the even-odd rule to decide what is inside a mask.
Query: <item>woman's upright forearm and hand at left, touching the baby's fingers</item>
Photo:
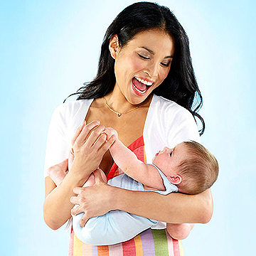
[[[113,137],[105,141],[106,135],[102,134],[103,129],[105,127],[95,122],[87,125],[84,123],[79,127],[75,133],[75,139],[73,138],[75,159],[71,170],[58,187],[55,187],[49,177],[46,178],[46,200],[43,213],[50,228],[58,229],[70,218],[70,211],[73,208],[70,197],[75,195],[73,188],[82,186],[87,181],[114,142]]]

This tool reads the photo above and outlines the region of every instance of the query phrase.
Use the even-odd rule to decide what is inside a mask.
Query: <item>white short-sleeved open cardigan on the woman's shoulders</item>
[[[68,158],[71,139],[85,119],[92,100],[65,102],[53,112],[48,131],[44,176],[47,169]],[[192,114],[184,107],[154,95],[143,130],[146,162],[151,164],[156,152],[164,146],[173,148],[186,140],[200,141]]]

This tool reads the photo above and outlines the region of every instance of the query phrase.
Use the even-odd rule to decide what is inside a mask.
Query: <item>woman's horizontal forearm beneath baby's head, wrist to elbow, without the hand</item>
[[[112,208],[166,223],[208,223],[213,214],[210,189],[193,196],[124,190],[115,194]]]

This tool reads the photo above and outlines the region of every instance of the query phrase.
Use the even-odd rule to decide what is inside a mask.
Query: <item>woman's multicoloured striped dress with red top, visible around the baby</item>
[[[143,137],[134,141],[129,149],[134,151],[138,159],[146,162]],[[121,174],[113,164],[107,179]],[[74,234],[70,234],[68,256],[183,256],[181,241],[174,240],[166,230],[148,229],[135,238],[117,245],[95,246],[81,242]]]

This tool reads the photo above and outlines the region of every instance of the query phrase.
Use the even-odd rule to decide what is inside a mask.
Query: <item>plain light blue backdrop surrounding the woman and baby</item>
[[[107,26],[133,1],[1,1],[1,255],[67,255],[68,233],[43,222],[50,117],[97,70]],[[159,1],[186,29],[206,132],[220,176],[214,214],[186,256],[255,251],[255,1]]]

